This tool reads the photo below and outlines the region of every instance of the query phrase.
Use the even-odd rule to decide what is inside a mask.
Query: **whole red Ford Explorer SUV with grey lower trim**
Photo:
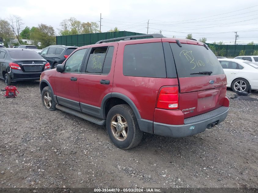
[[[129,149],[143,132],[185,137],[219,124],[228,113],[226,85],[206,44],[149,34],[76,49],[42,72],[40,91],[46,109],[106,124],[114,145]]]

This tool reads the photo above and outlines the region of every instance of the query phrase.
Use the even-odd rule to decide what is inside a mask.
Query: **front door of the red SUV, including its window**
[[[74,52],[64,63],[64,72],[56,72],[56,98],[60,105],[81,111],[79,105],[79,78],[88,48]]]

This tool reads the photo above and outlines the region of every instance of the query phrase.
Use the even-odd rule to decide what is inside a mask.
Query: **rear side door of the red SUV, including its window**
[[[112,92],[117,47],[118,43],[91,46],[79,80],[82,112],[100,116],[94,109]]]

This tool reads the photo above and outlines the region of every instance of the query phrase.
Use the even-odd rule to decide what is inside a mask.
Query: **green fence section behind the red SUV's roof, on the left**
[[[118,31],[118,32],[104,32],[95,34],[78,34],[78,35],[65,35],[56,36],[57,45],[67,46],[84,46],[95,44],[97,41],[106,40],[111,38],[119,38],[124,36],[142,35],[136,32],[130,31]]]

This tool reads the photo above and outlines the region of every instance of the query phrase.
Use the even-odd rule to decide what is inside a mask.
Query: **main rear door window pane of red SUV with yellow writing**
[[[86,73],[102,73],[107,47],[93,48],[89,55]]]

